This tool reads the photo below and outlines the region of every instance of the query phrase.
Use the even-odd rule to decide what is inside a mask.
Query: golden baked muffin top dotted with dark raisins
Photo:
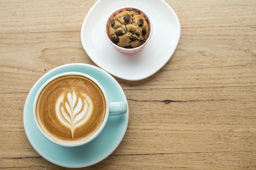
[[[136,9],[117,14],[109,26],[110,40],[118,46],[132,49],[146,42],[149,35],[147,19]]]

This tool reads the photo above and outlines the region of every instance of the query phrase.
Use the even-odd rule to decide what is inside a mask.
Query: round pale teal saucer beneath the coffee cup
[[[66,64],[43,75],[29,92],[23,113],[23,123],[32,147],[47,161],[66,168],[83,168],[94,165],[108,157],[121,143],[129,119],[129,110],[124,115],[111,116],[103,131],[93,141],[78,147],[58,146],[48,141],[36,128],[33,118],[33,100],[36,92],[50,77],[59,73],[76,71],[86,73],[98,80],[105,88],[109,102],[127,102],[119,83],[106,71],[89,64]]]

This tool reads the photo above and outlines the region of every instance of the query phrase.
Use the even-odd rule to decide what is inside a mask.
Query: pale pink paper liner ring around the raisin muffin
[[[149,24],[149,35],[148,35],[148,38],[146,40],[146,42],[144,42],[143,44],[141,44],[140,46],[137,46],[135,48],[132,48],[132,49],[126,49],[124,47],[121,47],[121,46],[118,46],[117,44],[113,43],[111,40],[110,40],[110,37],[108,36],[108,28],[107,28],[107,25],[108,25],[108,22],[111,22],[110,21],[110,18],[112,15],[117,15],[115,14],[117,11],[120,11],[120,10],[129,10],[129,9],[137,9],[138,11],[141,11],[142,13],[144,13],[144,17],[147,18],[147,22]],[[134,52],[137,52],[139,50],[141,50],[147,43],[148,41],[150,40],[151,36],[152,36],[152,32],[153,32],[153,24],[152,24],[152,21],[150,19],[150,17],[148,17],[148,15],[144,12],[144,10],[140,9],[140,8],[137,8],[137,7],[132,7],[132,6],[128,6],[128,7],[121,7],[119,9],[116,9],[115,11],[113,11],[112,13],[110,13],[110,15],[108,15],[108,18],[104,24],[104,33],[105,33],[105,36],[108,40],[108,42],[110,42],[110,44],[112,44],[113,46],[115,46],[115,48],[121,52],[124,52],[124,53],[134,53]]]

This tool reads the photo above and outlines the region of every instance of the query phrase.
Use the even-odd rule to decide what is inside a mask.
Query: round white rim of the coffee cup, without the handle
[[[52,139],[51,137],[49,137],[44,131],[43,129],[40,127],[40,125],[38,124],[37,118],[36,118],[36,102],[38,99],[38,96],[40,95],[41,91],[43,90],[43,88],[49,84],[49,82],[52,82],[54,79],[58,78],[58,77],[62,77],[65,75],[80,75],[80,76],[84,76],[89,78],[90,80],[92,80],[95,84],[97,84],[97,86],[101,89],[101,92],[103,93],[103,96],[105,98],[105,102],[106,102],[106,111],[105,111],[105,116],[103,119],[103,122],[101,124],[101,126],[98,128],[98,130],[92,135],[90,136],[88,139],[83,140],[83,141],[79,141],[79,142],[74,142],[74,143],[63,143],[60,141],[56,141],[54,139]],[[60,145],[60,146],[66,146],[66,147],[76,147],[76,146],[81,146],[84,144],[89,143],[90,141],[92,141],[94,138],[96,138],[100,132],[103,130],[103,128],[105,127],[107,120],[108,120],[108,116],[109,116],[109,100],[108,100],[108,95],[105,91],[105,89],[103,88],[103,86],[92,76],[85,74],[85,73],[81,73],[81,72],[75,72],[75,71],[70,71],[70,72],[64,72],[64,73],[60,73],[57,75],[54,75],[52,77],[50,77],[49,79],[47,79],[46,82],[43,83],[42,86],[40,86],[40,88],[38,89],[38,91],[36,92],[36,95],[34,97],[34,101],[33,101],[33,117],[34,117],[34,122],[36,124],[36,127],[38,128],[38,130],[40,131],[40,133],[49,141],[51,141],[54,144]]]

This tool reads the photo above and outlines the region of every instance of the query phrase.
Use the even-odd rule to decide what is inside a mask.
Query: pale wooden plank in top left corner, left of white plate
[[[2,0],[0,33],[78,31],[97,0]]]

